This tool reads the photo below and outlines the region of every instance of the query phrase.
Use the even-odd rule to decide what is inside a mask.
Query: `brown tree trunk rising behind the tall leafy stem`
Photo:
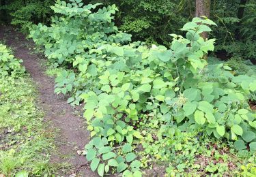
[[[196,0],[195,2],[195,16],[207,16],[210,18],[210,7],[211,7],[211,0]],[[208,33],[202,33],[201,35],[203,39],[208,37]]]

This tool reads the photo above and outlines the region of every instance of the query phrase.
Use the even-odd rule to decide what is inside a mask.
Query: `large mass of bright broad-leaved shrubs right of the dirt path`
[[[30,37],[44,46],[48,61],[66,68],[55,92],[70,95],[73,106],[85,103],[91,170],[141,176],[162,161],[154,165],[167,167],[167,176],[231,175],[248,163],[242,171],[255,174],[256,120],[248,95],[256,81],[203,59],[214,50],[214,39],[200,36],[211,31],[212,20],[193,18],[182,28],[186,37],[172,34],[169,48],[148,48],[118,31],[115,5],[70,0],[52,9],[51,26],[34,26]],[[237,152],[232,147],[240,150],[238,159],[229,157]]]

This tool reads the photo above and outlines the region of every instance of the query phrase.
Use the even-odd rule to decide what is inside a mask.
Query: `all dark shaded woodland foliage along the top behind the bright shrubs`
[[[169,45],[171,33],[195,16],[195,0],[84,0],[85,4],[114,4],[119,8],[115,24],[132,34],[134,40]],[[1,22],[11,22],[26,32],[31,22],[47,24],[52,0],[1,0]],[[217,23],[210,37],[217,39],[216,56],[221,59],[256,58],[256,1],[212,0],[210,18]]]

